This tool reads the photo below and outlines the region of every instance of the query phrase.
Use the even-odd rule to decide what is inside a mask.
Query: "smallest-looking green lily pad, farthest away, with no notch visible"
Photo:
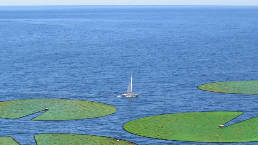
[[[199,89],[220,93],[258,94],[258,81],[224,81],[206,83],[198,86]]]

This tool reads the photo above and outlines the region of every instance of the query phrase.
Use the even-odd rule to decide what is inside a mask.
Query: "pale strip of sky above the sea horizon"
[[[258,0],[0,0],[0,6],[27,5],[215,5],[258,6]]]

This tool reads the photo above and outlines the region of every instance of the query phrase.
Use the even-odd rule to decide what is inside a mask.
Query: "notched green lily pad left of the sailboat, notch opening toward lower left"
[[[110,115],[114,106],[84,100],[28,99],[0,102],[0,117],[17,119],[46,110],[32,120],[78,120]]]

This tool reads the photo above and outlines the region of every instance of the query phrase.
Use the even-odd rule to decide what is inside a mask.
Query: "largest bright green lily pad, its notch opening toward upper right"
[[[144,117],[127,122],[124,129],[140,136],[176,141],[258,141],[258,117],[219,128],[243,112],[190,112]]]

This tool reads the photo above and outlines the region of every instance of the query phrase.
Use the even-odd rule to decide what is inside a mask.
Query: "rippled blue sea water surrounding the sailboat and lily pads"
[[[0,6],[0,100],[76,99],[113,105],[72,121],[0,118],[0,137],[36,145],[35,134],[106,136],[139,145],[253,145],[153,139],[123,125],[181,112],[258,116],[258,95],[202,91],[218,81],[257,80],[258,6]],[[133,73],[138,97],[121,97]]]

